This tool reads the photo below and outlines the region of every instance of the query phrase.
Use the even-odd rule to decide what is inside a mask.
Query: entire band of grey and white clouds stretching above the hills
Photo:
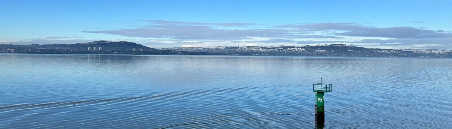
[[[402,46],[407,48],[452,49],[452,32],[422,27],[375,27],[370,23],[330,22],[288,25],[265,25],[244,22],[182,22],[140,20],[128,28],[90,29],[94,34],[133,37],[141,44],[179,47],[182,45],[231,44],[354,44],[358,46]],[[407,21],[428,23],[422,21]],[[143,24],[144,23],[144,24]],[[83,37],[47,37],[13,44],[58,44],[88,42]],[[266,39],[266,40],[256,40]],[[267,40],[270,39],[270,40]],[[99,39],[105,40],[105,39]],[[89,40],[93,41],[93,40]]]

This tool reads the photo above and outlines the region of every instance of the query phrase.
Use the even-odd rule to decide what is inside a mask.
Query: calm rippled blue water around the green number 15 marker
[[[450,129],[452,59],[0,54],[1,129]]]

